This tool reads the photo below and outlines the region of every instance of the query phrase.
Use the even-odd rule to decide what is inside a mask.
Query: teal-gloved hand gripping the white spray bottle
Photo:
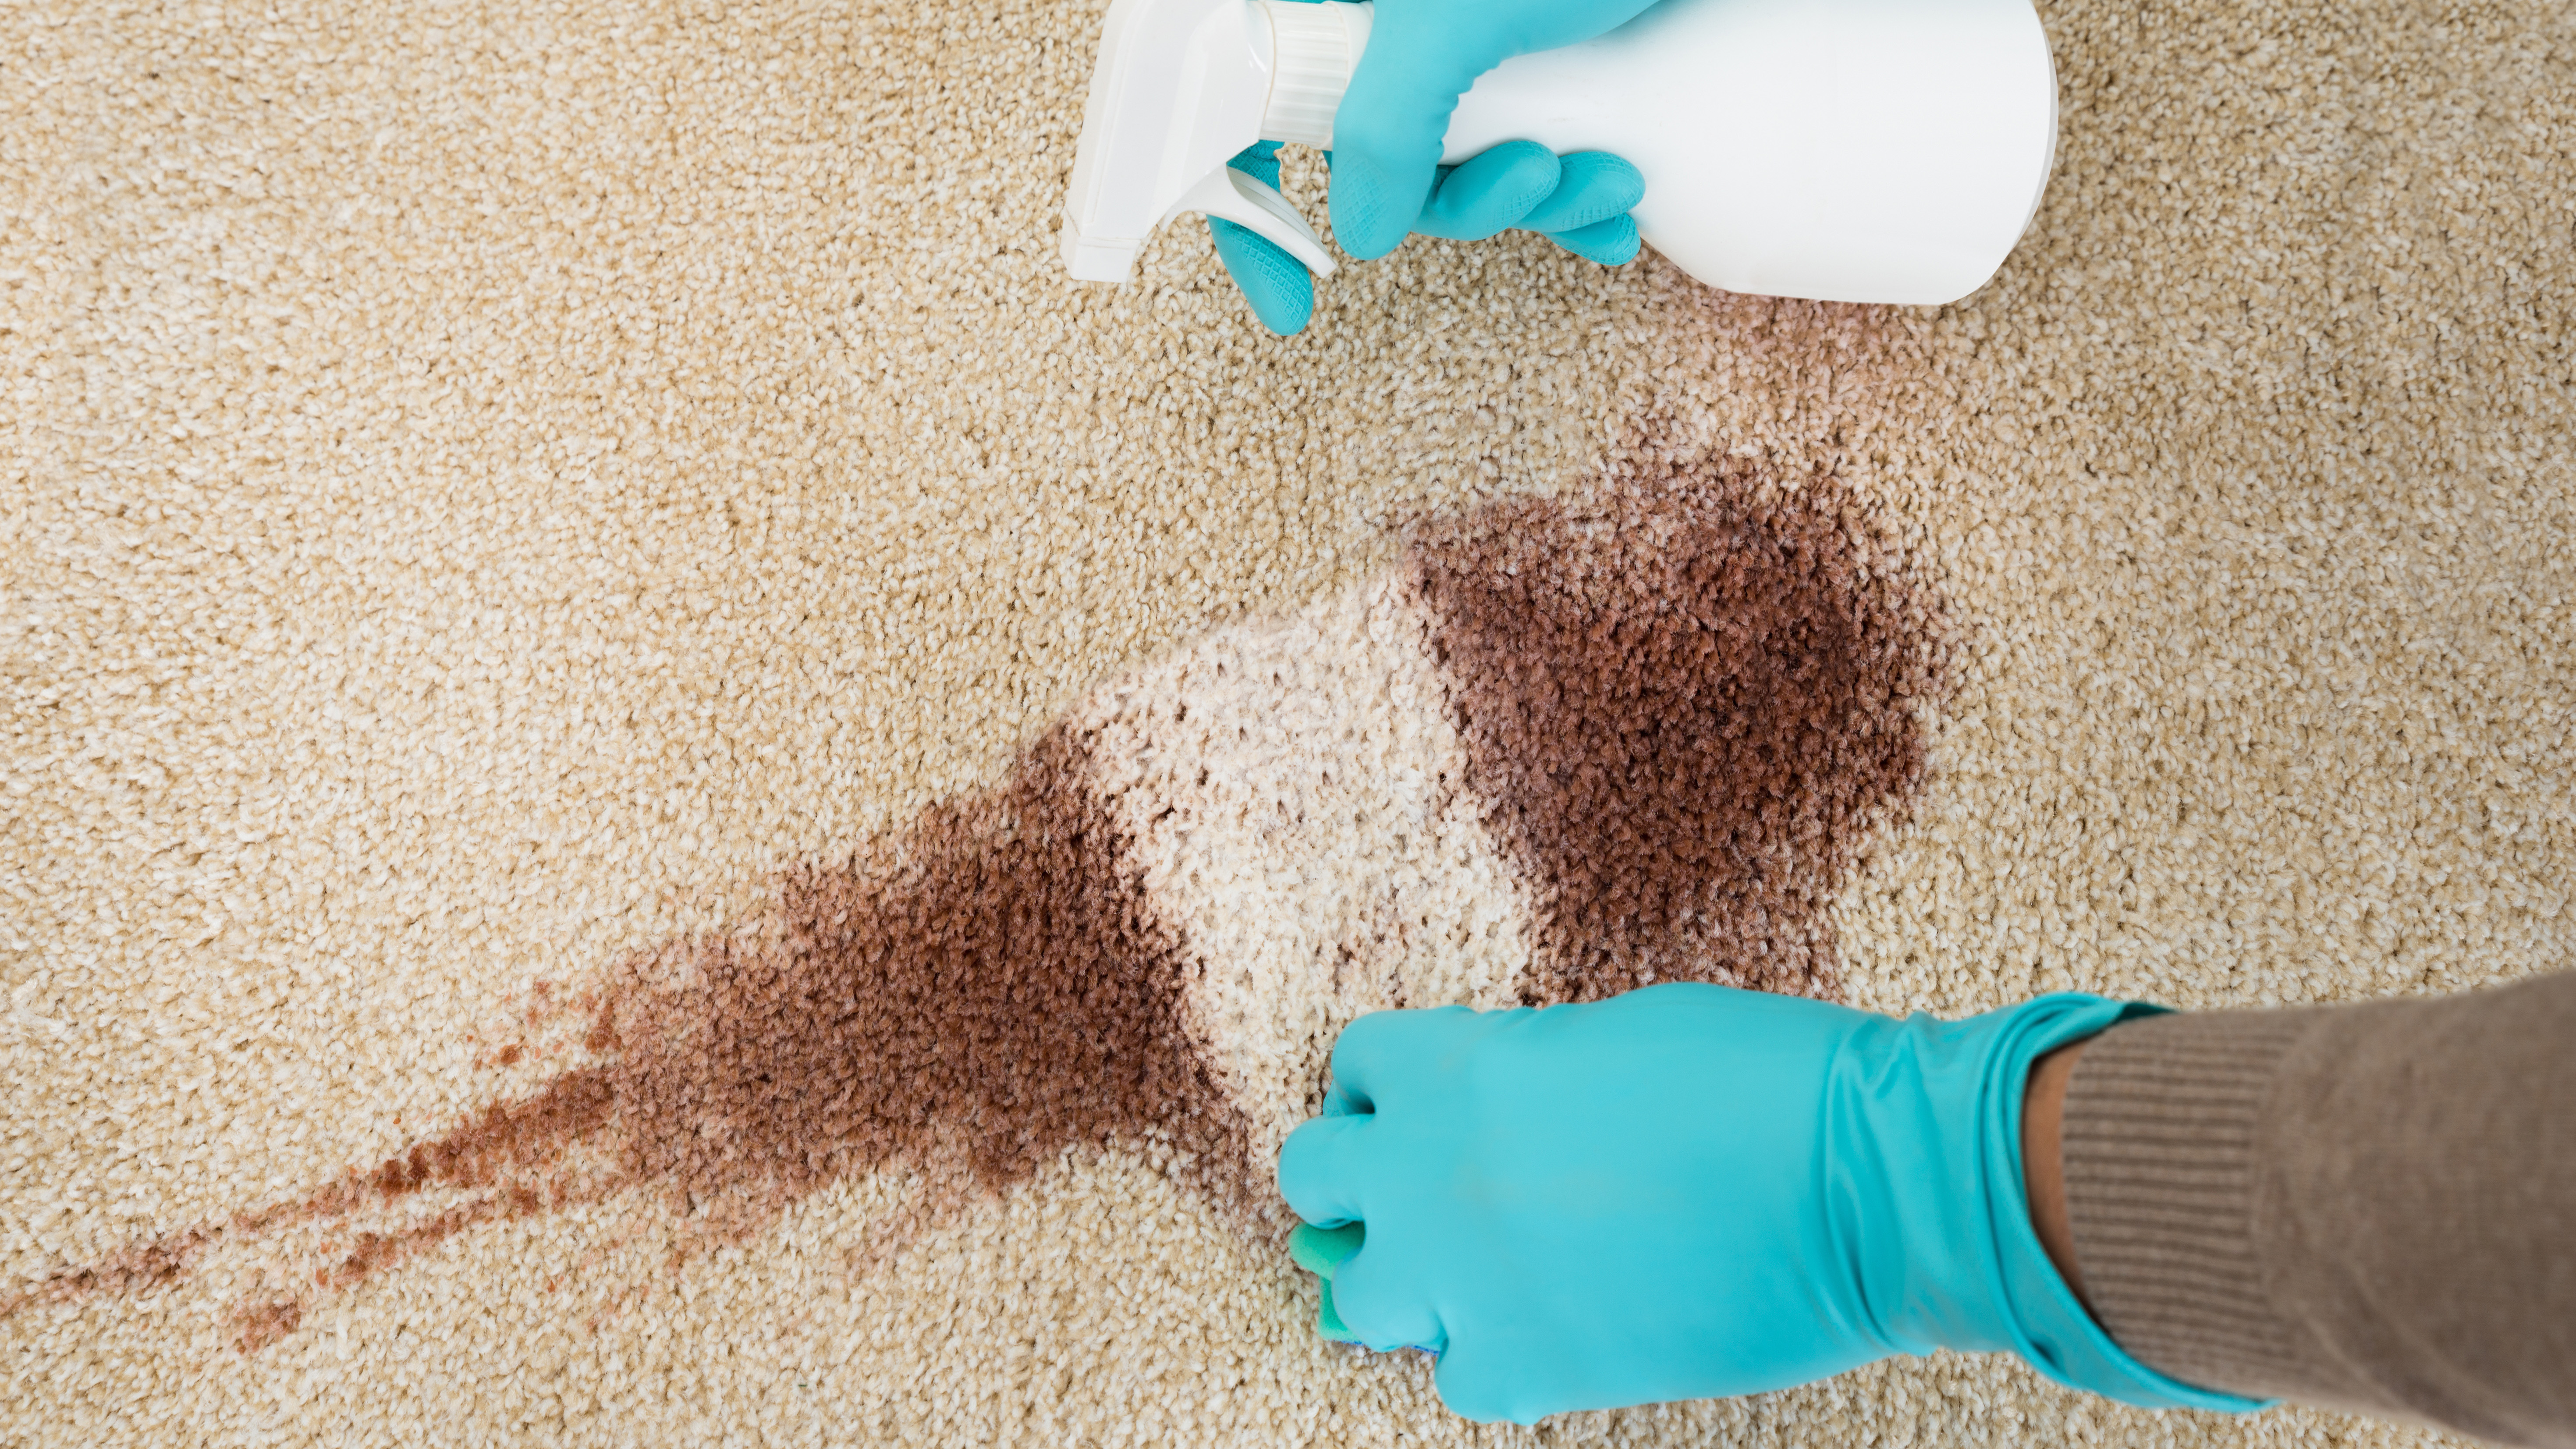
[[[1406,232],[1476,242],[1504,229],[1543,232],[1602,266],[1636,255],[1628,209],[1646,178],[1610,152],[1558,157],[1504,142],[1440,165],[1450,111],[1476,77],[1515,54],[1607,34],[1651,0],[1378,0],[1368,52],[1334,111],[1332,235],[1355,258],[1381,258]],[[1234,170],[1278,186],[1278,142],[1247,147]],[[1252,229],[1208,219],[1216,255],[1252,312],[1288,335],[1314,315],[1314,281]]]

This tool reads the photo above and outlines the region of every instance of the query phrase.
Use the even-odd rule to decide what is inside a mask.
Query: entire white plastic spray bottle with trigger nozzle
[[[1126,281],[1188,211],[1242,222],[1316,276],[1332,255],[1252,142],[1332,144],[1373,5],[1115,0],[1064,201],[1077,281]],[[1445,162],[1530,139],[1646,178],[1638,235],[1728,291],[1958,302],[2040,209],[2058,83],[2030,0],[1662,0],[1489,70]]]

